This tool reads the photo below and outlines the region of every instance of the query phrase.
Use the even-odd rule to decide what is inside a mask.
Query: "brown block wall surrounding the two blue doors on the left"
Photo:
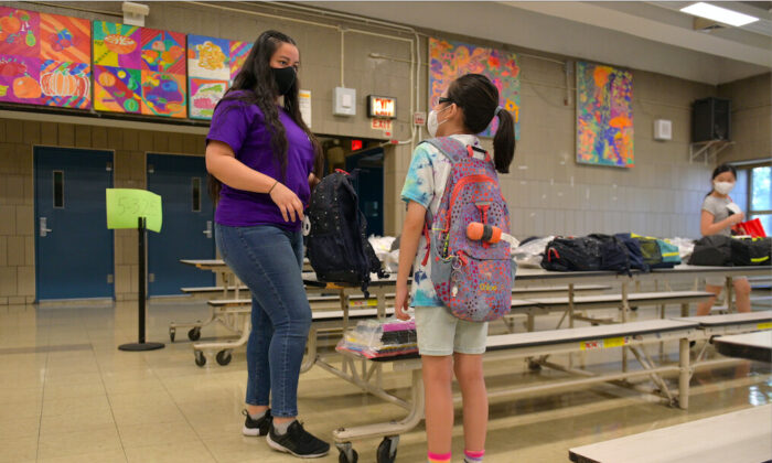
[[[146,186],[146,154],[204,154],[204,136],[85,125],[0,119],[0,304],[34,301],[35,146],[114,152],[114,185]],[[77,246],[77,244],[75,244]],[[137,234],[115,230],[116,299],[136,299]]]

